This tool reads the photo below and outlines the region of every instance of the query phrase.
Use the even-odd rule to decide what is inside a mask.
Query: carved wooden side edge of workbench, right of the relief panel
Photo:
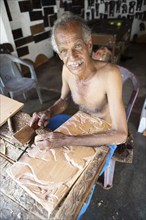
[[[95,156],[92,163],[89,164],[88,168],[79,177],[58,210],[55,210],[52,213],[52,220],[72,220],[77,218],[82,205],[86,202],[91,193],[92,184],[94,184],[95,180],[97,180],[102,169],[102,165],[105,162],[107,148],[102,146],[100,150],[101,152]]]

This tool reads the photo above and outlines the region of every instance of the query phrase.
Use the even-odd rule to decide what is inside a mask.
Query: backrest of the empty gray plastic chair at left
[[[0,54],[0,77],[5,83],[14,77],[22,77],[14,56],[10,54]]]

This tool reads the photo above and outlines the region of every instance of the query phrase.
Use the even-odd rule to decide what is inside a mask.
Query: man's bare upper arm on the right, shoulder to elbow
[[[128,135],[125,106],[122,98],[122,76],[115,66],[108,74],[107,97],[112,120],[112,131],[116,132],[115,141],[125,142]],[[118,144],[118,143],[117,143]]]

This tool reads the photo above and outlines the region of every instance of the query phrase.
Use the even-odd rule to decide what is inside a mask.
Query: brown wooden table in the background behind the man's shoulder
[[[106,46],[112,52],[112,63],[118,63],[127,48],[132,19],[95,19],[88,22],[92,30],[93,45]]]

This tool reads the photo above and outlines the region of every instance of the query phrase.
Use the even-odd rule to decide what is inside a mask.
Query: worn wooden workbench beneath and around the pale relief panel
[[[19,130],[27,121],[29,115],[19,112],[12,118],[15,125],[14,130]],[[12,141],[13,133],[8,130],[7,124],[0,128],[1,148],[6,145],[7,153],[0,155],[1,167],[1,218],[5,219],[47,219],[48,212],[35,199],[13,181],[7,174],[8,167],[19,160],[30,147],[16,145]],[[86,170],[79,176],[70,191],[51,213],[49,219],[76,219],[84,202],[88,199],[91,189],[97,180],[99,173],[105,163],[108,148],[101,148],[100,155],[87,166]]]

